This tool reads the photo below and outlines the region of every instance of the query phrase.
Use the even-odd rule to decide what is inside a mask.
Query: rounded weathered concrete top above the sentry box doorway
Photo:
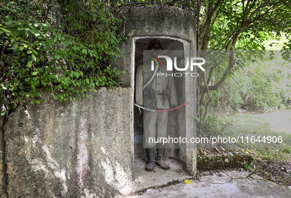
[[[125,28],[121,33],[131,37],[168,36],[194,42],[196,27],[194,16],[181,8],[169,6],[145,6],[131,8],[125,13]],[[145,19],[148,20],[145,20]],[[193,46],[194,47],[194,46]]]

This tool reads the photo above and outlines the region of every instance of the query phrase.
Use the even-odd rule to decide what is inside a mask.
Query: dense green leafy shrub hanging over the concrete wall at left
[[[103,0],[0,3],[2,112],[39,104],[45,87],[60,101],[76,100],[99,86],[119,85],[109,58],[121,57],[121,20]]]

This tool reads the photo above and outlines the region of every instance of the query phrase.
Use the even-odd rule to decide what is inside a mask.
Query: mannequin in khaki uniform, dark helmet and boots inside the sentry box
[[[148,45],[148,50],[162,50],[162,44],[160,40],[153,39]],[[156,65],[158,67],[158,65]],[[162,64],[159,68],[160,73],[172,74],[171,71],[166,71],[166,64]],[[143,86],[151,79],[154,75],[154,71],[151,70],[151,64],[146,62],[144,64],[138,65],[136,68],[136,81],[135,81],[135,102],[137,105],[144,106],[146,108],[147,104],[152,103],[152,101],[147,101],[147,97],[144,95]],[[168,110],[171,107],[177,107],[177,95],[174,78],[171,75],[157,75],[152,80],[151,86],[155,96],[156,102],[149,109],[153,110]],[[169,101],[171,104],[169,104]],[[144,146],[146,148],[148,164],[146,170],[154,170],[155,163],[159,165],[162,169],[169,169],[169,165],[164,161],[165,155],[165,144],[156,143],[149,141],[155,138],[165,138],[167,137],[167,122],[168,122],[168,112],[151,112],[143,111],[143,138]],[[156,139],[157,140],[157,139]],[[155,158],[155,146],[157,147],[157,157]]]

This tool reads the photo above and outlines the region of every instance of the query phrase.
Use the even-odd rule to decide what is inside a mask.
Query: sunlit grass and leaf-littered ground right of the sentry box
[[[213,113],[203,125],[198,124],[197,137],[199,136],[243,137],[243,141],[239,139],[237,143],[216,144],[216,147],[223,146],[230,151],[251,154],[254,160],[251,164],[246,164],[245,169],[282,186],[291,185],[291,134],[277,131],[265,121],[263,115]],[[252,136],[255,137],[254,140],[260,137],[260,142],[250,142]],[[249,143],[246,142],[246,137],[249,137]],[[282,137],[282,142],[263,143],[263,137],[274,137],[274,140]]]

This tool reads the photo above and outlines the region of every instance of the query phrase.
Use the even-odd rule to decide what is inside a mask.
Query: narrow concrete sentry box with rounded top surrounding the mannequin
[[[154,38],[159,39],[163,49],[166,50],[194,51],[196,25],[191,13],[175,7],[136,7],[123,13],[123,16],[126,19],[120,28],[120,34],[124,34],[127,39],[121,42],[120,49],[126,58],[118,59],[114,65],[125,71],[122,83],[131,87],[133,149],[134,157],[137,159],[137,157],[145,156],[145,149],[143,148],[142,115],[138,115],[136,107],[133,108],[135,69],[143,63],[143,51],[147,50],[148,43]],[[196,123],[193,119],[196,112],[196,78],[185,76],[176,78],[175,84],[177,95],[180,96],[179,105],[184,102],[188,104],[179,112],[169,113],[168,133],[179,132],[190,140],[196,136]],[[167,149],[166,156],[184,162],[188,173],[194,175],[196,145],[195,143],[186,144],[184,149]]]

